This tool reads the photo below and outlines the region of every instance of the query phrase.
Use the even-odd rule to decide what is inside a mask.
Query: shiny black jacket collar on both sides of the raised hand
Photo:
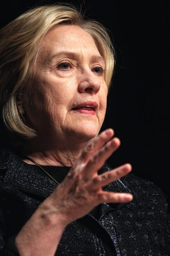
[[[56,188],[56,182],[45,174],[37,171],[37,169],[23,162],[17,155],[6,149],[0,150],[0,169],[6,169],[4,181],[18,189],[40,195],[42,197],[49,196]],[[111,167],[105,164],[99,173],[110,171]],[[106,185],[103,190],[114,192],[128,192],[130,190],[121,181],[116,181]],[[109,210],[120,209],[126,204],[103,204],[101,214],[103,215]]]

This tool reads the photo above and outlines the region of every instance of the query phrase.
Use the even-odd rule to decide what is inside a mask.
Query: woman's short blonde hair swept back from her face
[[[23,118],[17,101],[31,93],[38,50],[46,33],[58,24],[77,25],[87,31],[105,60],[105,82],[109,87],[114,68],[114,48],[107,30],[97,21],[85,19],[76,7],[56,4],[36,7],[20,15],[0,31],[0,103],[4,125],[20,138],[36,132]]]

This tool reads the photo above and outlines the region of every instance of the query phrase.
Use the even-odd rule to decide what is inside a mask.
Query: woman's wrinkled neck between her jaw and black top
[[[59,140],[56,143],[49,143],[36,137],[24,145],[22,160],[29,164],[35,162],[39,165],[70,167],[81,155],[88,141],[72,140],[70,143],[67,139],[64,141],[67,141],[67,144]]]

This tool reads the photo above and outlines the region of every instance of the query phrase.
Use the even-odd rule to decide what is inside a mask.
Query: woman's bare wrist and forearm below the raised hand
[[[67,226],[62,214],[57,214],[51,204],[45,201],[16,236],[15,245],[21,256],[54,255]]]

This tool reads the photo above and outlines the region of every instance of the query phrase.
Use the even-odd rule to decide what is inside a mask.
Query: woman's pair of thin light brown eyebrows
[[[77,53],[77,52],[60,51],[60,52],[57,52],[57,53],[53,54],[52,56],[48,55],[46,61],[50,62],[52,59],[54,59],[56,57],[61,57],[62,55],[67,55],[68,57],[70,57],[71,59],[74,59],[74,60],[80,60],[80,54]],[[101,60],[101,61],[104,61],[104,63],[105,63],[104,58],[100,55],[92,55],[90,60],[91,61]]]

